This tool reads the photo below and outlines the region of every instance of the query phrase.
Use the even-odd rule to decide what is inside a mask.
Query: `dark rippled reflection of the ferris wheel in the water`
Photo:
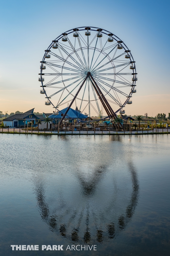
[[[88,244],[111,241],[126,228],[139,197],[137,171],[131,159],[126,161],[131,189],[123,189],[126,184],[120,186],[115,178],[106,178],[114,171],[107,164],[96,166],[88,174],[86,170],[76,167],[74,185],[68,188],[64,182],[51,186],[50,192],[42,176],[37,176],[34,184],[38,207],[50,230],[60,239]],[[59,177],[57,172],[56,176]],[[109,184],[108,180],[111,180]],[[76,194],[72,192],[75,190]],[[47,195],[49,193],[50,196]],[[129,197],[125,199],[128,193]]]

